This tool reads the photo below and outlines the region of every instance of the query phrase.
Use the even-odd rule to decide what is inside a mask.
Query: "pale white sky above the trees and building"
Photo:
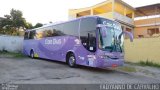
[[[12,8],[21,10],[23,17],[33,25],[40,22],[68,20],[68,10],[84,8],[105,0],[0,0],[0,17],[10,13]],[[132,7],[160,3],[160,0],[123,0]]]

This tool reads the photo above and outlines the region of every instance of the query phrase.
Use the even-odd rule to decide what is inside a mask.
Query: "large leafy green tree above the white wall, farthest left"
[[[0,18],[0,31],[3,34],[12,35],[25,28],[32,28],[32,25],[26,22],[20,10],[11,9],[10,15],[4,15],[3,18]]]

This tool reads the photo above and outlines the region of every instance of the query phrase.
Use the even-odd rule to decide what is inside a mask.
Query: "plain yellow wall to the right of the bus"
[[[152,61],[160,64],[160,37],[125,40],[125,60],[129,62]]]

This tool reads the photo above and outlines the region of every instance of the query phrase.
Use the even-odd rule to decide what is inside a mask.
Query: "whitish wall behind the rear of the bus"
[[[23,48],[23,37],[0,35],[0,51],[21,52]]]

